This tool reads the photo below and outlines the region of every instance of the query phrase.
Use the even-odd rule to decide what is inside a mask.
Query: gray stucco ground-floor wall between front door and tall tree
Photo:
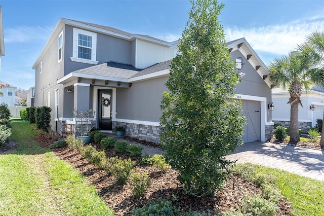
[[[133,83],[131,88],[116,89],[116,118],[159,122],[163,92],[168,76]]]

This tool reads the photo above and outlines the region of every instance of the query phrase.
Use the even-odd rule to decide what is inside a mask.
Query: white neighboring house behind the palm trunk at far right
[[[272,101],[275,107],[272,111],[272,121],[285,127],[290,125],[290,94],[288,90],[280,88],[272,89]],[[299,128],[306,132],[308,128],[316,125],[317,119],[323,119],[324,113],[324,89],[314,87],[309,93],[301,95],[303,107],[298,107],[298,122]],[[279,108],[280,107],[280,108]],[[313,109],[312,109],[313,107]]]

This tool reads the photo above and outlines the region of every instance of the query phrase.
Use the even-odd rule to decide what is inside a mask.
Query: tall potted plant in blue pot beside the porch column
[[[76,133],[75,136],[82,139],[85,144],[90,143],[90,130],[93,128],[92,121],[95,117],[95,111],[73,111],[75,120]]]

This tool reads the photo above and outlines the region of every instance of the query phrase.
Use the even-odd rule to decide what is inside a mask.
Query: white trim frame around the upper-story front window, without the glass
[[[77,52],[78,52],[78,34],[85,34],[92,37],[92,51],[91,51],[91,60],[90,59],[84,59],[84,58],[78,58]],[[86,31],[78,28],[73,28],[73,53],[72,57],[70,57],[71,61],[75,62],[82,62],[82,63],[88,63],[88,64],[98,64],[97,61],[97,33]]]

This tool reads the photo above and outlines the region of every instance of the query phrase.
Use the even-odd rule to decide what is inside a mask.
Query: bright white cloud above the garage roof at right
[[[226,41],[246,38],[254,50],[276,55],[287,54],[313,31],[324,31],[324,19],[320,16],[308,20],[257,28],[225,28]]]

